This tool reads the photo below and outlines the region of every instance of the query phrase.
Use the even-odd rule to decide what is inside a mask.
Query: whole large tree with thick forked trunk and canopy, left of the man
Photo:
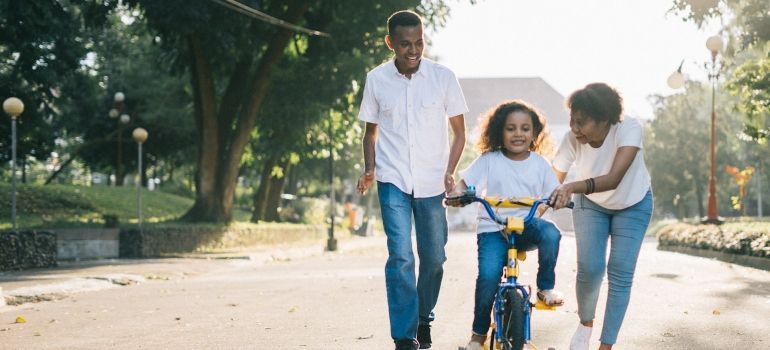
[[[144,9],[149,25],[162,38],[169,56],[175,58],[177,67],[190,74],[198,131],[198,175],[195,204],[185,218],[228,221],[245,146],[261,116],[270,84],[281,83],[271,79],[273,70],[287,58],[291,40],[305,34],[269,26],[211,1],[134,0],[129,3]],[[324,28],[324,22],[332,23],[334,26],[327,30],[332,37],[329,41],[348,47],[352,45],[336,37],[373,42],[371,36],[381,33],[384,17],[375,18],[367,10],[393,11],[415,7],[420,1],[310,4],[284,0],[250,4],[293,24]],[[443,8],[443,2],[428,4],[429,18],[436,13],[433,9]],[[357,38],[343,35],[348,31],[355,32]],[[373,47],[369,46],[369,50]],[[310,76],[316,72],[308,70],[305,74]]]

